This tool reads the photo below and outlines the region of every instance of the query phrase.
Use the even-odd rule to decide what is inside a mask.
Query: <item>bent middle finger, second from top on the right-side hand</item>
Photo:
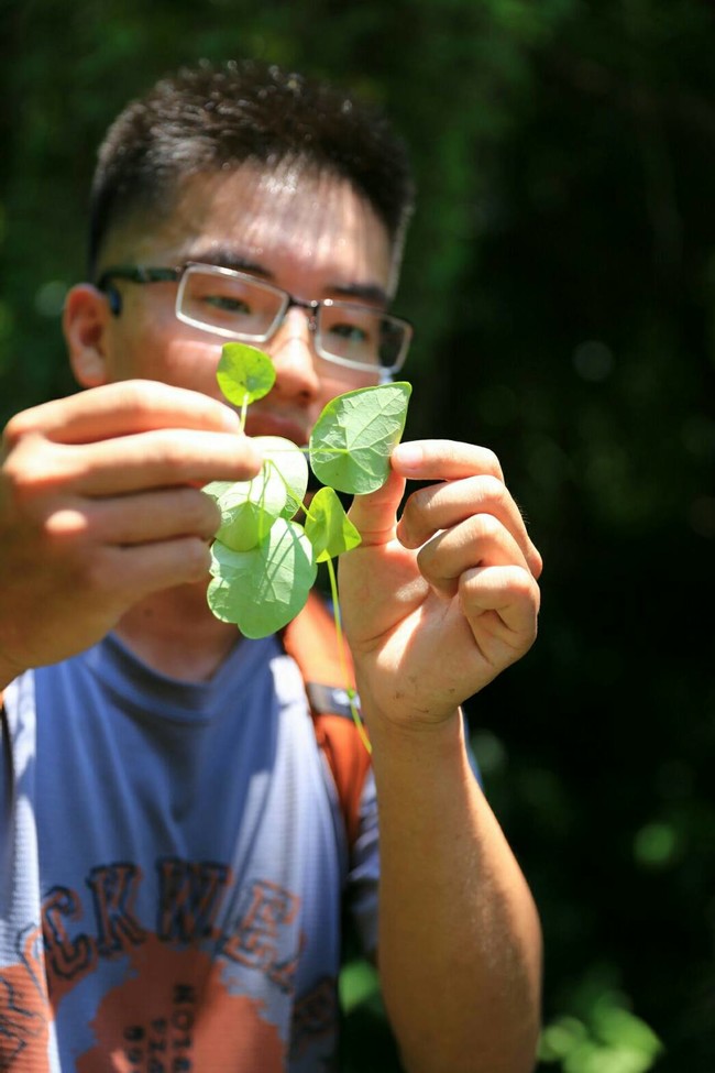
[[[479,514],[493,515],[512,534],[535,572],[540,571],[541,558],[521,512],[506,485],[492,475],[431,484],[414,492],[405,504],[397,535],[406,548],[419,548],[440,529]]]

